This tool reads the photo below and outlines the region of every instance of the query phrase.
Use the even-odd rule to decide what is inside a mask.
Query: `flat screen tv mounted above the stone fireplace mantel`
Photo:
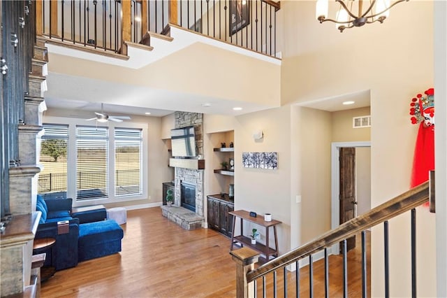
[[[196,157],[196,135],[194,127],[182,127],[170,130],[173,157]]]

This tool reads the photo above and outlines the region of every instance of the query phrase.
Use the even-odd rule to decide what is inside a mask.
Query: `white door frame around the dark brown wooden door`
[[[339,227],[340,209],[339,209],[339,193],[340,193],[340,165],[339,165],[339,148],[346,147],[371,147],[371,141],[353,141],[353,142],[332,142],[330,144],[330,228]],[[338,255],[339,243],[332,246],[332,254]]]

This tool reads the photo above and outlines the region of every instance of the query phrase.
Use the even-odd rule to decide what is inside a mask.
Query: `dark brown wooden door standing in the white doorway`
[[[340,148],[339,151],[340,187],[340,225],[356,217],[356,148]],[[356,247],[356,236],[347,239],[347,250]],[[340,243],[340,252],[343,243]]]

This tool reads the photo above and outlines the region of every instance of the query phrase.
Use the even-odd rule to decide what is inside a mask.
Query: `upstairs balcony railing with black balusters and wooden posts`
[[[36,1],[37,34],[126,55],[126,42],[175,24],[210,38],[277,57],[279,2],[266,0]]]

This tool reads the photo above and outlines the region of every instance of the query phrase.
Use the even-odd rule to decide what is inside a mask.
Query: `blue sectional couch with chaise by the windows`
[[[56,271],[121,251],[124,232],[115,220],[105,220],[105,208],[72,214],[72,203],[72,199],[37,198],[36,211],[41,211],[42,216],[35,238],[56,240],[44,264]]]

